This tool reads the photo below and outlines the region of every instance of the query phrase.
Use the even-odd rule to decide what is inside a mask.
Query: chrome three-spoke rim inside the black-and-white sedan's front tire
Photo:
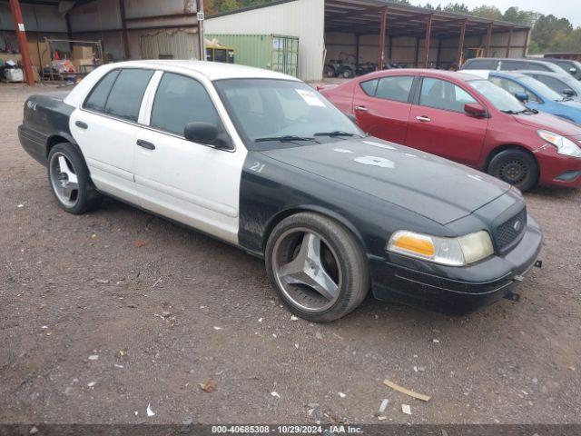
[[[307,228],[290,229],[276,241],[272,257],[276,282],[300,310],[324,312],[339,299],[339,257],[320,233]]]

